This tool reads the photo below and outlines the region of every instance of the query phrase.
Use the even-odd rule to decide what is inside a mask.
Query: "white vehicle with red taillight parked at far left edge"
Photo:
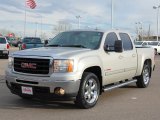
[[[5,56],[8,59],[9,43],[5,37],[0,36],[0,56]]]

